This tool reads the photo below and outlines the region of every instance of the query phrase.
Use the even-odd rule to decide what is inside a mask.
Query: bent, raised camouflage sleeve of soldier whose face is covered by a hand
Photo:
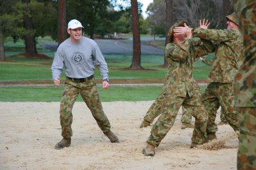
[[[168,43],[165,47],[164,56],[171,58],[174,61],[185,61],[189,54],[189,41],[185,40],[180,45],[175,43]]]

